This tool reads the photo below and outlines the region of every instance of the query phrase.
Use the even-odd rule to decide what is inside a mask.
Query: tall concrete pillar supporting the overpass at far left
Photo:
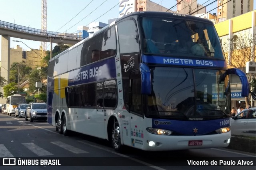
[[[1,77],[10,83],[10,36],[2,35],[1,41]]]

